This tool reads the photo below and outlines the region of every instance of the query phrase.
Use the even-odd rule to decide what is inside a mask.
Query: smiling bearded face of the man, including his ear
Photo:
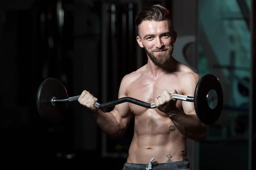
[[[168,20],[145,20],[140,24],[140,37],[137,36],[137,42],[157,66],[167,65],[172,57],[175,40],[176,32],[172,31]]]

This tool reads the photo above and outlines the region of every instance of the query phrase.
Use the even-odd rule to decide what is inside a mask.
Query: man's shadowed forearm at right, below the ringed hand
[[[207,125],[204,125],[196,114],[186,114],[179,109],[167,114],[177,130],[188,139],[200,142],[205,139]]]

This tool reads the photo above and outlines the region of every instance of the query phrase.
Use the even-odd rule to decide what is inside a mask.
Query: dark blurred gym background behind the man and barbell
[[[207,140],[188,141],[192,170],[256,169],[252,0],[1,0],[1,164],[122,169],[133,123],[110,139],[78,102],[50,123],[38,114],[36,94],[54,77],[69,96],[88,90],[99,103],[117,99],[122,77],[147,62],[134,19],[152,4],[172,14],[174,57],[198,74],[215,74],[224,90]]]

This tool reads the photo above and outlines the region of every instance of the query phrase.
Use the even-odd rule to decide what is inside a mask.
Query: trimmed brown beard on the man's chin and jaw
[[[158,50],[152,50],[151,52],[147,51],[146,48],[145,52],[148,54],[148,57],[151,59],[151,61],[160,67],[165,67],[167,66],[167,64],[169,63],[169,60],[172,57],[172,53],[173,53],[173,47],[170,46],[170,48],[162,48],[162,49],[158,49]],[[154,56],[154,52],[156,51],[163,51],[163,50],[167,50],[166,53],[163,54],[158,54],[157,57]]]

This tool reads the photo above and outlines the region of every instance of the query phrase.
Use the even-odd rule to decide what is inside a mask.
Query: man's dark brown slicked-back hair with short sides
[[[135,18],[135,26],[137,28],[138,34],[140,36],[140,24],[145,21],[162,21],[169,20],[170,26],[173,28],[172,18],[169,15],[169,10],[161,5],[152,5],[149,8],[141,11]]]

